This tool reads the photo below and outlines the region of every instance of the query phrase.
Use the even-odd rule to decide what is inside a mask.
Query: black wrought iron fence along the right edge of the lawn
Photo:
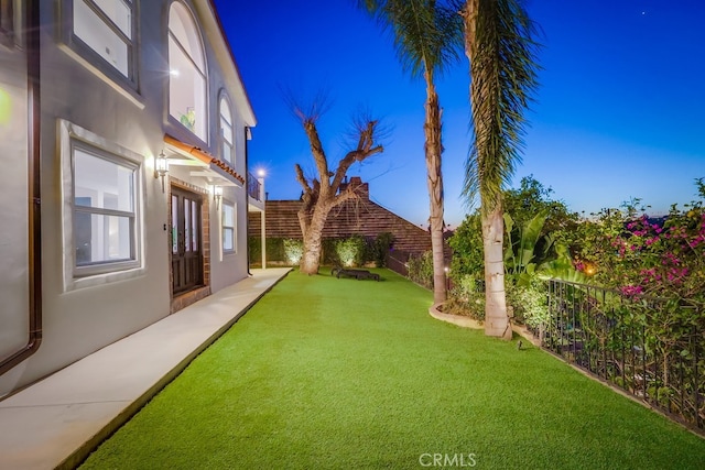
[[[549,282],[543,347],[705,430],[704,311],[676,300]]]

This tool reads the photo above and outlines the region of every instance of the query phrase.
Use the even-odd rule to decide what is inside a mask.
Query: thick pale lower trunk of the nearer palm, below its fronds
[[[482,244],[485,247],[485,335],[511,339],[505,293],[502,206],[497,204],[482,211]]]

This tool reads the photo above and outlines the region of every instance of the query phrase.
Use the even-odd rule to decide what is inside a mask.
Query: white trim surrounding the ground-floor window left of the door
[[[69,121],[58,120],[59,156],[62,162],[62,247],[64,264],[64,292],[84,287],[108,284],[143,276],[144,266],[144,220],[142,204],[144,200],[144,157],[115,142],[95,134]],[[76,269],[76,254],[74,247],[74,170],[73,170],[73,142],[79,141],[96,147],[116,159],[124,159],[135,166],[134,173],[134,261],[129,263],[118,262],[105,265],[115,267],[116,271],[89,274],[86,270]],[[77,273],[79,271],[79,273]],[[83,271],[83,272],[80,272]],[[86,273],[86,274],[84,274]]]

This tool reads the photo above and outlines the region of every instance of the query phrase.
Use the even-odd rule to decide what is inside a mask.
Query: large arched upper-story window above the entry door
[[[169,12],[169,113],[207,142],[206,59],[196,23],[183,3]]]

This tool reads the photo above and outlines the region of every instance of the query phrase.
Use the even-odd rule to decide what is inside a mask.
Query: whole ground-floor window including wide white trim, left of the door
[[[58,120],[64,291],[144,274],[144,156]]]

